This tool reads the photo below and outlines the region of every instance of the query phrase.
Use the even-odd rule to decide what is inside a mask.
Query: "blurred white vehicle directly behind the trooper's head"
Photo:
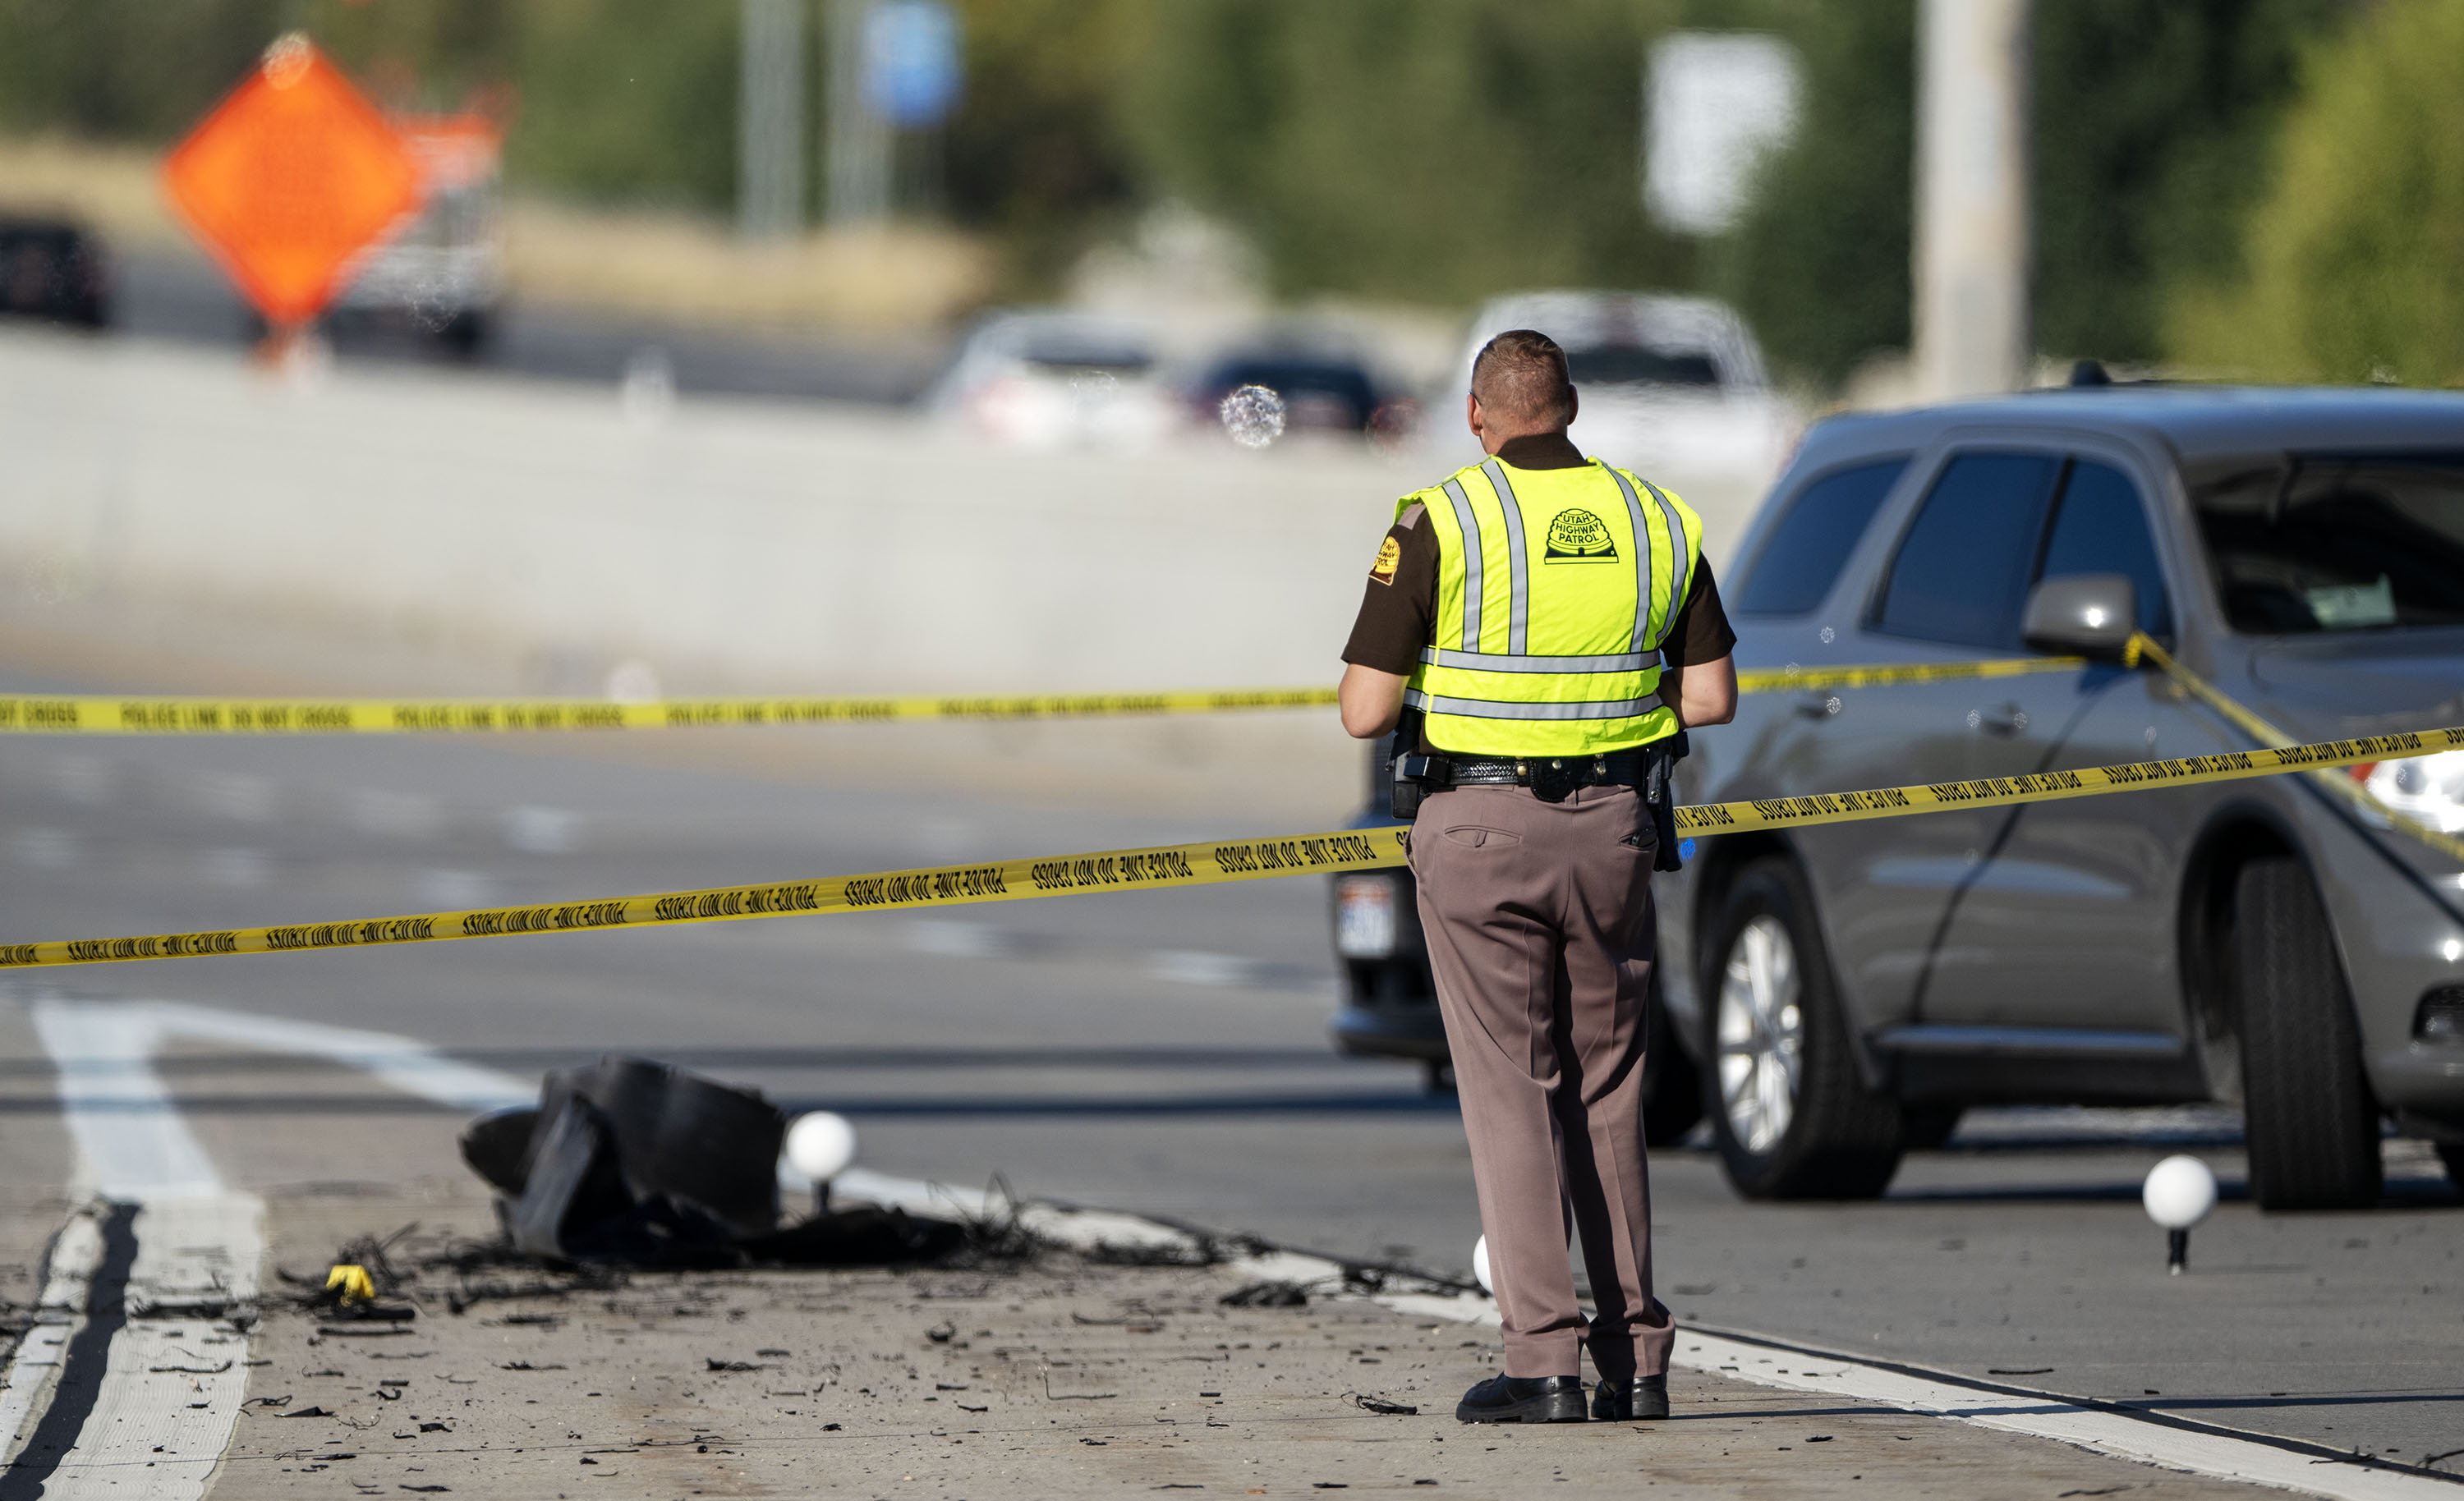
[[[1636,291],[1525,291],[1473,315],[1459,365],[1508,328],[1538,328],[1565,348],[1582,392],[1570,436],[1584,454],[1641,473],[1769,483],[1796,449],[1804,419],[1772,389],[1762,348],[1725,303]],[[1446,394],[1461,402],[1459,392]],[[1461,431],[1437,421],[1434,431]],[[1461,444],[1473,454],[1471,436]]]

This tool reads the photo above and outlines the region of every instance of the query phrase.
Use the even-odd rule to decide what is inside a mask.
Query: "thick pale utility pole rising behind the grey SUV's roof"
[[[1917,389],[2018,389],[2035,357],[2028,0],[1922,0],[1917,30]]]

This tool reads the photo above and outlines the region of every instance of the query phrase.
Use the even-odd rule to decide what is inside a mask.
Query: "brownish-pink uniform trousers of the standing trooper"
[[[1412,875],[1471,1139],[1506,1375],[1668,1370],[1676,1328],[1651,1296],[1643,996],[1651,811],[1629,786],[1542,803],[1520,786],[1432,796]],[[1597,1316],[1574,1301],[1567,1220]]]

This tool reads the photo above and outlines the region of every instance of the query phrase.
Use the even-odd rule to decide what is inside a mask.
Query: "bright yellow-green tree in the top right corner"
[[[2171,352],[2269,380],[2464,380],[2464,5],[2388,0],[2309,59],[2245,271]]]

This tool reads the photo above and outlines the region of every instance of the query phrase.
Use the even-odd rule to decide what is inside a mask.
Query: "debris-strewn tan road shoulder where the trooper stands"
[[[392,1235],[419,1319],[338,1333],[269,1311],[249,1407],[214,1494],[1092,1496],[1318,1489],[1567,1496],[1905,1494],[2230,1496],[2070,1444],[1878,1402],[1673,1378],[1663,1425],[1454,1422],[1493,1338],[1360,1294],[1227,1306],[1237,1267],[1133,1267],[1047,1252],[926,1272],[636,1274],[621,1287],[439,1262],[493,1220],[476,1186],[399,1203],[271,1193],[274,1262],[296,1277]],[[468,1237],[468,1240],[463,1240]],[[527,1289],[525,1289],[527,1284]],[[453,1301],[488,1296],[453,1314]],[[1355,1397],[1417,1407],[1372,1412]],[[296,1417],[293,1417],[296,1415]],[[444,1494],[444,1491],[439,1491]]]

